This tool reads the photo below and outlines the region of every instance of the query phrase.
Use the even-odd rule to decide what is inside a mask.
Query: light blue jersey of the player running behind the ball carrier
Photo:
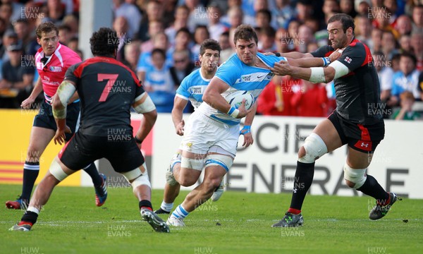
[[[190,75],[186,76],[178,90],[176,90],[176,96],[189,100],[194,109],[197,109],[202,103],[202,95],[206,90],[207,85],[209,85],[210,80],[204,78],[201,75],[200,69],[192,71]]]

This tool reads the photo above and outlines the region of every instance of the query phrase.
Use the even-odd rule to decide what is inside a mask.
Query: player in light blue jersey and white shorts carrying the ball
[[[270,68],[278,61],[302,67],[325,66],[330,61],[329,57],[286,59],[257,53],[257,34],[250,25],[238,26],[233,42],[236,54],[216,71],[204,91],[204,103],[192,113],[185,126],[180,170],[174,174],[180,185],[191,186],[205,167],[204,180],[176,207],[166,222],[168,225],[185,226],[183,219],[212,197],[223,176],[231,169],[240,135],[240,119],[245,116],[245,126],[241,130],[245,134],[243,146],[253,143],[250,126],[257,104],[246,110],[243,102],[235,109],[223,97],[243,90],[257,99],[274,75]]]

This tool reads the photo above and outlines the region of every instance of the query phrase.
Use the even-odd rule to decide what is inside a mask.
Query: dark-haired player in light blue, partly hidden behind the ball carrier
[[[173,103],[172,120],[175,125],[176,134],[184,134],[185,121],[183,120],[183,109],[191,102],[192,107],[197,109],[202,103],[202,95],[216,73],[219,63],[221,47],[216,40],[204,40],[200,46],[200,63],[201,68],[198,68],[188,76],[186,76],[176,90],[175,101]],[[166,172],[166,185],[164,186],[163,201],[160,209],[155,211],[157,214],[168,214],[173,208],[173,201],[179,194],[180,184],[172,177],[171,172],[177,172],[180,169],[180,155],[182,147],[179,147],[176,155],[171,159],[171,163]],[[217,188],[216,196],[223,193],[223,184],[221,188]],[[218,199],[218,198],[216,198]]]

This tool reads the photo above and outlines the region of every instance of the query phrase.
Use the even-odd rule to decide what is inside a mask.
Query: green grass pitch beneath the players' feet
[[[20,186],[0,185],[1,202],[16,193]],[[153,191],[154,208],[162,195]],[[276,229],[290,195],[228,191],[192,212],[185,228],[158,234],[141,221],[130,188],[109,188],[95,207],[92,188],[56,187],[30,232],[7,231],[23,211],[1,209],[0,253],[422,253],[423,200],[399,201],[376,222],[367,218],[369,201],[307,196],[305,225]]]

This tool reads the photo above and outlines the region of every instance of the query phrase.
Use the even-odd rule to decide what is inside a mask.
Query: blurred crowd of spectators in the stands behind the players
[[[37,80],[39,23],[54,22],[60,43],[84,59],[79,8],[80,0],[0,1],[0,107],[20,107]],[[419,118],[410,105],[423,98],[423,0],[113,0],[111,9],[120,42],[116,59],[137,73],[159,112],[171,111],[207,38],[221,44],[221,63],[235,53],[233,32],[242,23],[256,28],[259,52],[313,52],[329,44],[326,20],[347,13],[355,18],[355,37],[372,52],[380,107],[391,112],[385,117]],[[333,83],[275,76],[257,114],[328,116],[334,97]]]

